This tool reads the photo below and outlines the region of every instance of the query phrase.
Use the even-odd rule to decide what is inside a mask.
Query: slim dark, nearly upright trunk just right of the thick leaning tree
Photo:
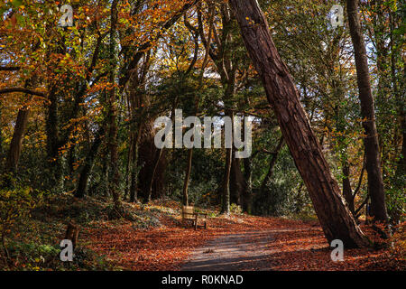
[[[361,115],[364,118],[363,126],[366,135],[364,137],[364,150],[366,172],[368,173],[368,190],[371,196],[371,210],[375,220],[387,222],[388,214],[383,191],[381,156],[379,152],[378,132],[375,124],[374,98],[369,79],[364,36],[358,16],[357,0],[347,0],[346,10],[351,39],[354,45]]]

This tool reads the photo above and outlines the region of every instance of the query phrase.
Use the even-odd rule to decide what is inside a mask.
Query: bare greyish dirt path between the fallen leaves
[[[247,231],[211,239],[198,247],[181,271],[243,271],[272,270],[269,246],[274,241],[272,231]]]

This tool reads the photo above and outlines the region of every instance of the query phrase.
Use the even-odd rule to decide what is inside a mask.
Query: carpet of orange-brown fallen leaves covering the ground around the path
[[[231,215],[211,218],[208,229],[198,230],[183,224],[180,216],[162,214],[160,221],[161,227],[148,229],[134,228],[129,221],[115,225],[106,222],[98,228],[88,228],[82,238],[90,240],[88,247],[106,255],[115,266],[124,270],[177,270],[196,247],[203,246],[210,238],[261,230],[271,230],[274,235],[268,245],[270,253],[263,258],[272,270],[406,268],[404,255],[391,249],[345,249],[345,261],[333,262],[330,257],[333,248],[328,246],[322,229],[314,221]],[[368,228],[363,229],[370,238],[376,238]],[[247,267],[247,270],[252,269]]]

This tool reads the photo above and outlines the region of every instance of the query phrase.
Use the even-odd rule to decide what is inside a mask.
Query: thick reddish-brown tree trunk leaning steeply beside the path
[[[268,23],[256,0],[230,0],[245,46],[263,80],[267,98],[281,126],[293,160],[309,191],[321,228],[331,242],[346,247],[369,245],[346,208],[337,181],[332,177],[318,140],[299,100],[289,70],[272,42]],[[254,23],[253,23],[254,22]]]

